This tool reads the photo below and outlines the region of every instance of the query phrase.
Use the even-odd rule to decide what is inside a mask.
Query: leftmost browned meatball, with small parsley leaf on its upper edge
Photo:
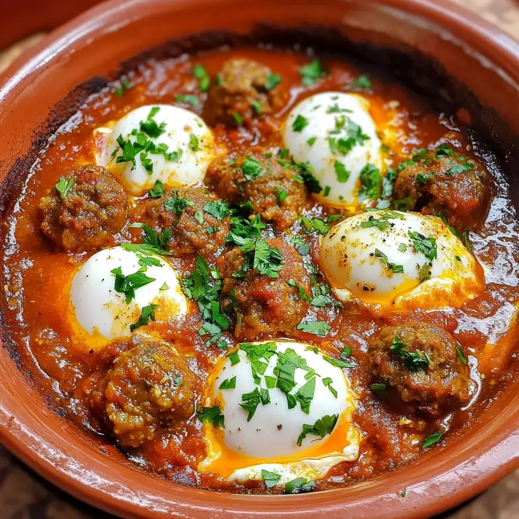
[[[72,252],[106,247],[127,223],[130,199],[101,166],[89,164],[67,175],[72,187],[63,195],[53,187],[39,202],[40,228],[60,248]]]

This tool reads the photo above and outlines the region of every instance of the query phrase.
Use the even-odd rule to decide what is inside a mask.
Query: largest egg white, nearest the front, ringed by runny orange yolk
[[[294,350],[318,374],[308,414],[299,403],[289,409],[285,393],[274,387],[268,389],[270,403],[260,403],[250,421],[247,421],[249,413],[240,406],[242,395],[267,387],[265,376],[276,377],[278,356],[275,353],[268,361],[261,359],[268,362],[268,366],[265,373],[259,375],[261,382],[257,385],[247,353],[236,350],[239,362],[233,365],[227,356],[215,367],[209,381],[206,405],[220,406],[225,427],[215,429],[210,424],[204,424],[208,456],[200,463],[199,470],[220,473],[231,481],[240,482],[261,480],[262,470],[268,470],[276,472],[280,476],[279,484],[284,484],[300,476],[320,479],[337,463],[357,459],[360,434],[351,424],[356,395],[343,370],[326,362],[322,352],[316,353],[313,346],[288,340],[276,340],[275,344],[279,352]],[[303,369],[296,368],[296,386],[290,394],[295,394],[307,383],[306,374]],[[222,381],[234,376],[235,389],[219,389]],[[337,397],[323,384],[322,380],[326,377],[332,379],[331,385]],[[331,434],[322,439],[318,435],[308,434],[301,446],[297,445],[303,424],[314,425],[325,415],[338,415]]]

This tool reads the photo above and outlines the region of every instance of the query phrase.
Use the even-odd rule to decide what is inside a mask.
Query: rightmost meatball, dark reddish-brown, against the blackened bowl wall
[[[462,233],[482,223],[490,199],[489,179],[479,162],[442,147],[423,160],[413,161],[399,173],[394,197],[411,197],[415,211],[441,213]]]

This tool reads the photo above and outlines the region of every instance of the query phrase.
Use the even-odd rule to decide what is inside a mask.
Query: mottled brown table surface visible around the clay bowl
[[[6,0],[0,0],[0,3]],[[73,0],[71,0],[73,1]],[[519,0],[452,0],[519,38]],[[0,72],[36,34],[0,52]],[[50,485],[0,446],[0,519],[115,519]],[[374,518],[375,519],[375,518]],[[456,510],[434,519],[519,519],[519,470]]]

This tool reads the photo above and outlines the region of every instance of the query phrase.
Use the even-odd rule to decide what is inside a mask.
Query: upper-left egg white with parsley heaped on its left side
[[[165,124],[165,132],[156,138],[146,135],[141,129],[141,121],[146,122],[153,108],[159,110],[152,119],[157,125]],[[124,141],[130,140],[134,144],[138,136],[132,132],[140,132],[155,146],[166,145],[167,152],[180,151],[180,158],[167,159],[161,153],[146,153],[143,158],[151,160],[152,173],[143,166],[141,152],[135,155],[135,166],[131,161],[117,162],[123,153],[117,138],[122,136]],[[191,141],[192,135],[196,138],[196,147]],[[97,164],[119,177],[134,196],[143,195],[156,180],[173,188],[200,184],[215,154],[213,134],[205,122],[185,108],[165,104],[135,108],[115,124],[95,129],[94,145]]]

